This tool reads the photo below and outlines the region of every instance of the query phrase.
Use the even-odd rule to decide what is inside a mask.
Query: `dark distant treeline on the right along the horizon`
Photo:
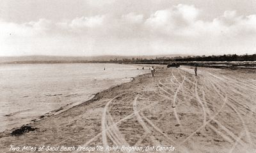
[[[122,60],[110,60],[109,62],[189,62],[189,61],[256,61],[256,54],[253,55],[209,55],[209,56],[186,56],[186,57],[156,57],[156,59],[122,59]]]

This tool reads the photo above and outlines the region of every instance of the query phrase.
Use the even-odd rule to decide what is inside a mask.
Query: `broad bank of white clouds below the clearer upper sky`
[[[150,15],[132,11],[22,24],[0,20],[0,55],[44,50],[54,55],[56,50],[60,55],[60,50],[65,55],[255,53],[256,15],[225,11],[206,21],[198,18],[200,12],[193,5],[178,4]]]

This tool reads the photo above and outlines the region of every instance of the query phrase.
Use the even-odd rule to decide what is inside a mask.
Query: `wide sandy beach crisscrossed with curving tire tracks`
[[[13,135],[14,129],[4,131],[0,152],[12,152],[10,145],[255,152],[255,70],[198,68],[197,77],[183,66],[156,71],[155,77],[136,77],[81,105],[37,119]]]

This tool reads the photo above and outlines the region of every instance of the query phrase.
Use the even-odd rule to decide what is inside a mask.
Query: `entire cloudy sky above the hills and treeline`
[[[1,0],[0,56],[256,54],[256,0]]]

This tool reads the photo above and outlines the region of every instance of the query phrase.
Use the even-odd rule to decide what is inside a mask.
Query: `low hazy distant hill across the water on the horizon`
[[[49,63],[49,62],[90,62],[90,61],[109,61],[122,59],[155,59],[156,57],[177,57],[185,55],[142,55],[142,56],[118,56],[118,55],[103,55],[103,56],[47,56],[47,55],[33,55],[33,56],[15,56],[15,57],[0,57],[0,64],[4,63]]]

